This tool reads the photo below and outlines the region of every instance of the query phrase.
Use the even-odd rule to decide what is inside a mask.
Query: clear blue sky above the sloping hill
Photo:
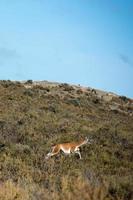
[[[133,0],[0,0],[0,79],[133,98]]]

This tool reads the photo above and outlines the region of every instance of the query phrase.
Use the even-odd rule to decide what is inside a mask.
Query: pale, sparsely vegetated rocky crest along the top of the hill
[[[97,98],[97,101],[103,102],[111,102],[113,105],[110,105],[111,110],[116,110],[119,112],[124,112],[125,114],[132,115],[132,108],[133,108],[133,99],[128,98],[126,96],[120,96],[113,92],[107,92],[99,89],[94,89],[91,87],[83,87],[81,85],[71,85],[67,83],[58,83],[58,82],[49,82],[49,81],[23,81],[22,82],[25,88],[34,88],[36,86],[41,86],[42,88],[45,87],[64,87],[65,90],[68,92],[71,90],[75,90],[75,92],[79,91],[79,93],[83,93],[86,95],[92,95],[92,97]]]

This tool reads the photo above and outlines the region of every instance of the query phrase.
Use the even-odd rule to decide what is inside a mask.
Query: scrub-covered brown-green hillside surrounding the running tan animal
[[[52,145],[78,155],[45,160]],[[92,88],[0,81],[0,200],[133,199],[133,100]]]

